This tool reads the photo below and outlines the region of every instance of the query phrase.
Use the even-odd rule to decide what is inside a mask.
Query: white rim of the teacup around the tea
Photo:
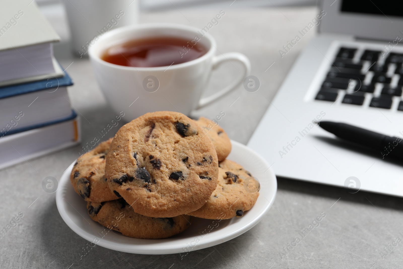
[[[109,67],[117,68],[117,69],[123,69],[123,70],[135,70],[135,71],[165,71],[168,67],[166,66],[159,66],[159,67],[132,67],[132,66],[124,66],[124,65],[116,65],[112,63],[108,63],[105,60],[102,60],[100,56],[96,55],[94,52],[95,48],[98,46],[102,46],[102,41],[105,40],[106,38],[110,38],[113,35],[116,35],[118,33],[122,33],[125,31],[131,31],[131,30],[136,30],[136,29],[179,29],[179,30],[184,30],[184,31],[193,31],[195,34],[197,34],[197,31],[200,31],[200,29],[193,27],[193,26],[188,26],[188,25],[182,25],[182,24],[177,24],[177,23],[141,23],[137,25],[127,25],[123,27],[119,27],[116,29],[113,29],[112,31],[108,31],[104,35],[98,35],[96,38],[98,38],[98,41],[95,41],[95,44],[93,44],[89,49],[88,49],[88,54],[89,58],[91,60],[96,60],[98,63],[102,65],[106,65]],[[213,38],[210,33],[205,33],[202,37],[206,37],[209,42],[210,42],[210,48],[204,54],[203,56],[190,60],[185,63],[180,63],[177,65],[171,65],[169,69],[180,69],[183,67],[188,67],[191,65],[195,65],[197,63],[200,63],[204,61],[206,58],[212,56],[214,54],[214,50],[216,49],[216,40]],[[94,39],[96,39],[94,38]],[[93,39],[93,40],[94,40]],[[92,41],[92,40],[91,40]],[[91,43],[91,42],[90,42]]]

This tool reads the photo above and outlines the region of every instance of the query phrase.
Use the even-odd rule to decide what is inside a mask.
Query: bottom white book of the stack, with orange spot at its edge
[[[0,169],[78,144],[80,119],[0,136]]]

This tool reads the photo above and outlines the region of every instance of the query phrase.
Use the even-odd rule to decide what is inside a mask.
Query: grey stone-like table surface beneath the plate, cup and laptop
[[[212,118],[225,111],[220,124],[233,140],[246,144],[287,71],[314,33],[310,32],[283,58],[278,50],[312,20],[317,10],[314,7],[237,9],[231,6],[222,9],[226,15],[210,31],[217,39],[218,50],[239,51],[248,56],[252,75],[260,79],[261,87],[255,93],[239,87],[192,116]],[[174,9],[141,14],[140,21],[175,22],[201,28],[218,11]],[[67,71],[75,81],[69,88],[71,102],[88,120],[82,121],[85,144],[115,113],[100,92],[89,61],[69,53],[69,33],[63,14],[52,14],[48,12],[47,16],[62,36],[62,42],[55,46],[56,57],[64,67],[69,66]],[[235,75],[231,64],[224,65],[213,75],[206,94],[225,85]],[[270,211],[258,225],[233,240],[190,252],[183,259],[180,254],[128,254],[101,246],[80,259],[87,241],[64,223],[56,208],[55,194],[48,194],[41,187],[47,176],[60,178],[79,156],[80,148],[68,148],[0,171],[0,227],[6,227],[14,216],[23,213],[17,227],[12,227],[0,239],[1,268],[403,267],[400,243],[403,233],[399,234],[403,232],[401,198],[361,191],[350,194],[341,188],[281,178]],[[303,238],[299,232],[321,213],[326,217]],[[295,238],[300,242],[293,243]],[[296,246],[289,247],[291,244]]]

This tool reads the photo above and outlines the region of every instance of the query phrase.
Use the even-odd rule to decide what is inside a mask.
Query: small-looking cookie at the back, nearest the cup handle
[[[203,134],[207,135],[213,143],[217,152],[218,161],[224,161],[232,148],[231,140],[224,129],[205,117],[200,117],[196,122],[202,127]]]

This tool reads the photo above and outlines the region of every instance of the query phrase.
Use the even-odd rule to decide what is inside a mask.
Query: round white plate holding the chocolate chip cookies
[[[228,158],[242,165],[260,181],[259,198],[243,217],[221,221],[195,218],[192,225],[181,234],[166,239],[136,239],[113,230],[108,231],[91,220],[87,213],[87,202],[81,199],[71,186],[70,173],[75,161],[60,178],[56,192],[57,209],[64,222],[79,236],[94,243],[99,240],[99,246],[112,250],[137,254],[172,254],[215,246],[255,226],[270,209],[277,192],[276,176],[259,154],[243,144],[232,141],[232,151]]]

